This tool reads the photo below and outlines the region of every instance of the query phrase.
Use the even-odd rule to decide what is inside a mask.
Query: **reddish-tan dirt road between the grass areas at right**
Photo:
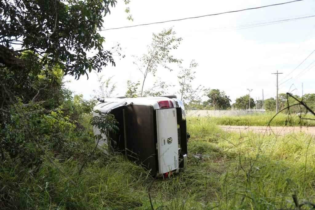
[[[305,132],[312,135],[315,135],[315,127],[266,127],[266,126],[234,126],[234,125],[219,125],[221,129],[224,131],[232,131],[232,132],[247,132],[253,131],[255,133],[266,133],[266,134],[277,134],[284,135],[288,133],[297,133],[297,132]]]

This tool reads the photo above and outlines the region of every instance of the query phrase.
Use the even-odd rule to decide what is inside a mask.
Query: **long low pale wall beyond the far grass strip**
[[[221,116],[242,116],[249,114],[264,114],[265,109],[244,109],[244,110],[186,110],[187,116],[221,117]]]

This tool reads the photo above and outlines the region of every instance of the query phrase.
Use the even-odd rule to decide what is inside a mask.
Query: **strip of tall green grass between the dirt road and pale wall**
[[[246,126],[266,126],[275,113],[252,114],[245,116],[222,116],[208,117],[216,125],[246,125]],[[303,118],[314,120],[301,120],[296,114],[278,114],[271,122],[271,126],[315,126],[315,117],[307,114]]]

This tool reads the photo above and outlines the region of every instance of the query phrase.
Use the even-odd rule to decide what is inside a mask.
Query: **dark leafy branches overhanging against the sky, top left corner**
[[[29,53],[40,65],[59,67],[77,79],[92,69],[100,72],[108,62],[115,65],[105,41],[97,30],[115,0],[89,1],[6,1],[1,6],[0,62],[12,71],[28,69],[29,61],[19,53]],[[20,45],[21,50],[11,50]],[[31,52],[27,51],[31,50]],[[86,51],[95,50],[89,57]]]

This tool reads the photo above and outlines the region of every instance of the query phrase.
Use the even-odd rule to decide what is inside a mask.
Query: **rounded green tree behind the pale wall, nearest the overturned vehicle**
[[[231,99],[230,96],[226,96],[224,91],[220,91],[219,89],[211,89],[207,96],[209,100],[207,104],[212,106],[214,109],[227,109],[231,107]]]

